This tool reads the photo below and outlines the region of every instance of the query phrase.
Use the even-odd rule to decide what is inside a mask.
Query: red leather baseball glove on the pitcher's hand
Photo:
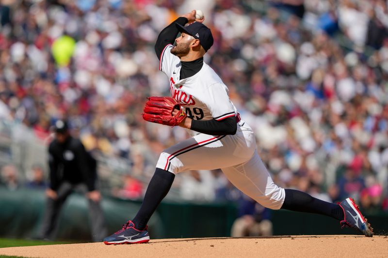
[[[175,116],[174,109],[180,110]],[[178,102],[171,97],[149,97],[144,107],[143,119],[169,126],[178,125],[186,117]]]

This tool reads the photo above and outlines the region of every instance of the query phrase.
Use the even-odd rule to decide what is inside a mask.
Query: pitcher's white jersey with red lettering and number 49
[[[171,54],[172,45],[162,52],[159,70],[170,78],[171,96],[178,101],[186,115],[194,120],[221,121],[236,116],[237,110],[228,96],[221,78],[205,62],[194,76],[180,80],[180,60]]]

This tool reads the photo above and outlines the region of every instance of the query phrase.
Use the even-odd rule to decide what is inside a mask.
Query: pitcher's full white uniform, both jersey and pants
[[[171,54],[172,47],[167,45],[163,49],[159,70],[169,77],[171,95],[185,108],[187,116],[218,121],[236,116],[226,85],[206,63],[194,76],[179,79],[181,63]],[[244,194],[271,209],[280,209],[285,197],[284,189],[273,182],[256,151],[252,129],[242,120],[238,122],[235,135],[198,133],[167,148],[156,167],[174,174],[221,168],[227,179]]]

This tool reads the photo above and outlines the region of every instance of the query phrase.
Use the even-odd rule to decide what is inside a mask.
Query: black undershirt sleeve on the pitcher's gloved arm
[[[235,117],[228,117],[221,121],[192,120],[191,130],[207,135],[235,135],[237,132],[237,122]]]

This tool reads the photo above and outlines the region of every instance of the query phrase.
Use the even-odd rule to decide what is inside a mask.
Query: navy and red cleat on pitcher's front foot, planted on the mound
[[[138,230],[130,220],[116,233],[104,238],[105,244],[147,243],[148,241],[147,227],[144,230]]]

